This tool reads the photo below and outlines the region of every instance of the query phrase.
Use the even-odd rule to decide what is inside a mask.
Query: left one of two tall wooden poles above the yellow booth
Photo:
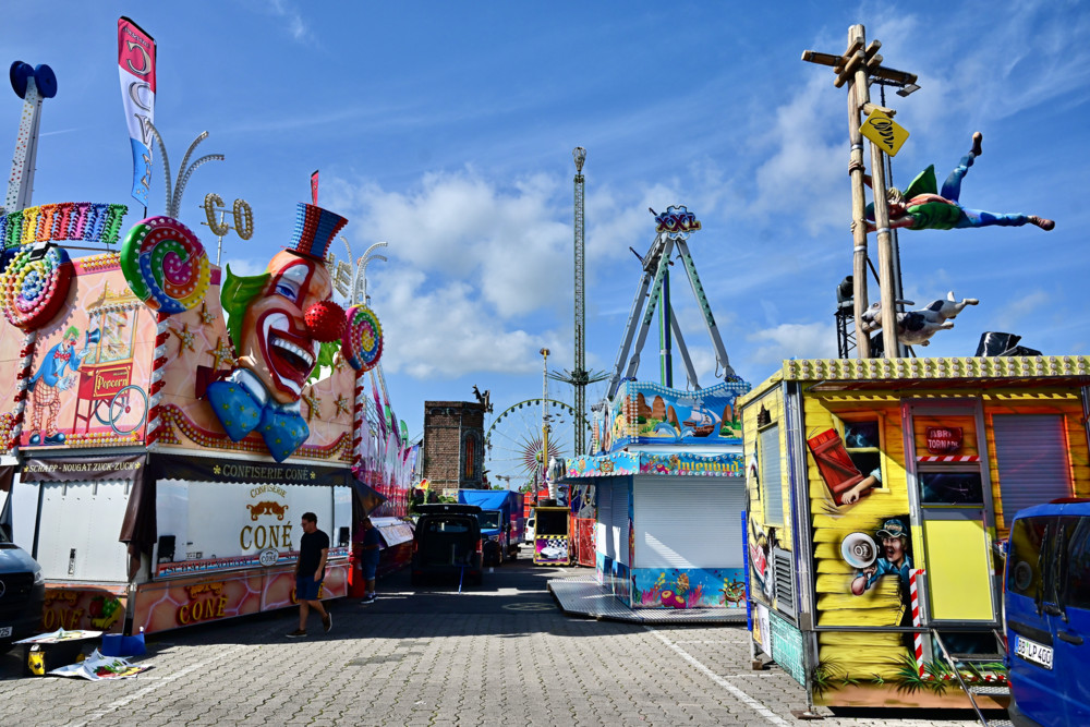
[[[863,47],[864,31],[862,25],[852,25],[848,29],[848,48],[856,44]],[[863,100],[867,99],[867,70],[861,64],[863,76]],[[858,80],[858,74],[857,74]],[[860,359],[871,358],[870,339],[863,331],[863,313],[869,305],[867,301],[867,192],[863,183],[863,135],[859,131],[859,110],[862,107],[857,97],[857,81],[848,84],[848,141],[851,144],[849,169],[851,170],[851,219],[852,225],[852,301],[856,316],[856,351]]]

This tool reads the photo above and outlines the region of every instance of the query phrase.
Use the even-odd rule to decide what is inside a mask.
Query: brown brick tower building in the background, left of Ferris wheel
[[[432,489],[484,489],[486,403],[424,402],[424,472]]]

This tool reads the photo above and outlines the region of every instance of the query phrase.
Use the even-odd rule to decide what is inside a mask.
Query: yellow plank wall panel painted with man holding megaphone
[[[899,407],[841,409],[835,415],[814,408],[807,419],[818,625],[877,629],[864,637],[819,633],[819,659],[811,670],[815,701],[915,704],[956,696],[952,668],[934,657],[937,646],[924,637],[917,642],[911,632],[882,631],[919,626],[913,621],[912,581],[923,564],[913,552]],[[968,440],[976,437],[970,420],[938,421],[968,428]],[[922,431],[936,423],[919,417],[916,425]],[[952,440],[960,437],[961,432],[953,431],[957,427],[947,428],[933,432],[936,448],[950,449]],[[922,434],[918,439],[917,450],[928,451]],[[967,449],[976,459],[974,447]],[[920,477],[921,496],[925,480]],[[945,481],[936,486],[945,485],[955,486]],[[754,583],[758,565],[752,566]],[[959,644],[967,653],[980,646]],[[1002,664],[979,668],[989,678],[1003,678]]]

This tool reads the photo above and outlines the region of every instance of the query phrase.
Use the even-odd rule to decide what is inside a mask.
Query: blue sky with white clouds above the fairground
[[[572,366],[577,145],[588,149],[589,368],[611,368],[639,283],[629,246],[646,252],[647,207],[671,204],[703,223],[690,249],[741,376],[835,355],[833,291],[852,246],[846,98],[831,69],[800,56],[843,52],[853,23],[882,41],[886,65],[920,76],[917,94],[887,96],[911,133],[895,183],[929,163],[942,180],[979,130],[962,203],[1057,223],[903,232],[906,298],[981,301],[918,354],[971,355],[984,330],[1047,354],[1090,350],[1086,3],[9,7],[5,62],[48,63],[60,87],[45,102],[34,204],[125,203],[129,227],[140,210],[116,64],[122,14],[156,38],[156,125],[172,165],[202,131],[199,150],[227,156],[194,174],[181,219],[214,246],[199,225],[206,193],[254,209],[254,238],[225,241],[232,268],[263,269],[287,243],[314,169],[356,255],[389,242],[368,291],[392,403],[414,434],[425,400],[472,400],[473,385],[497,413],[541,396],[543,346],[550,364]],[[0,107],[9,144],[20,110],[14,94]],[[149,214],[161,214],[160,169],[153,179]],[[710,386],[714,358],[680,278],[675,305]],[[655,348],[652,337],[642,378],[657,378]],[[679,364],[675,376],[683,385]]]

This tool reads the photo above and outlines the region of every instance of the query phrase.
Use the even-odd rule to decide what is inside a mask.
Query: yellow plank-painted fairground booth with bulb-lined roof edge
[[[1088,356],[785,361],[739,400],[754,651],[814,704],[1003,706],[994,546],[1090,495],[1088,385]]]

